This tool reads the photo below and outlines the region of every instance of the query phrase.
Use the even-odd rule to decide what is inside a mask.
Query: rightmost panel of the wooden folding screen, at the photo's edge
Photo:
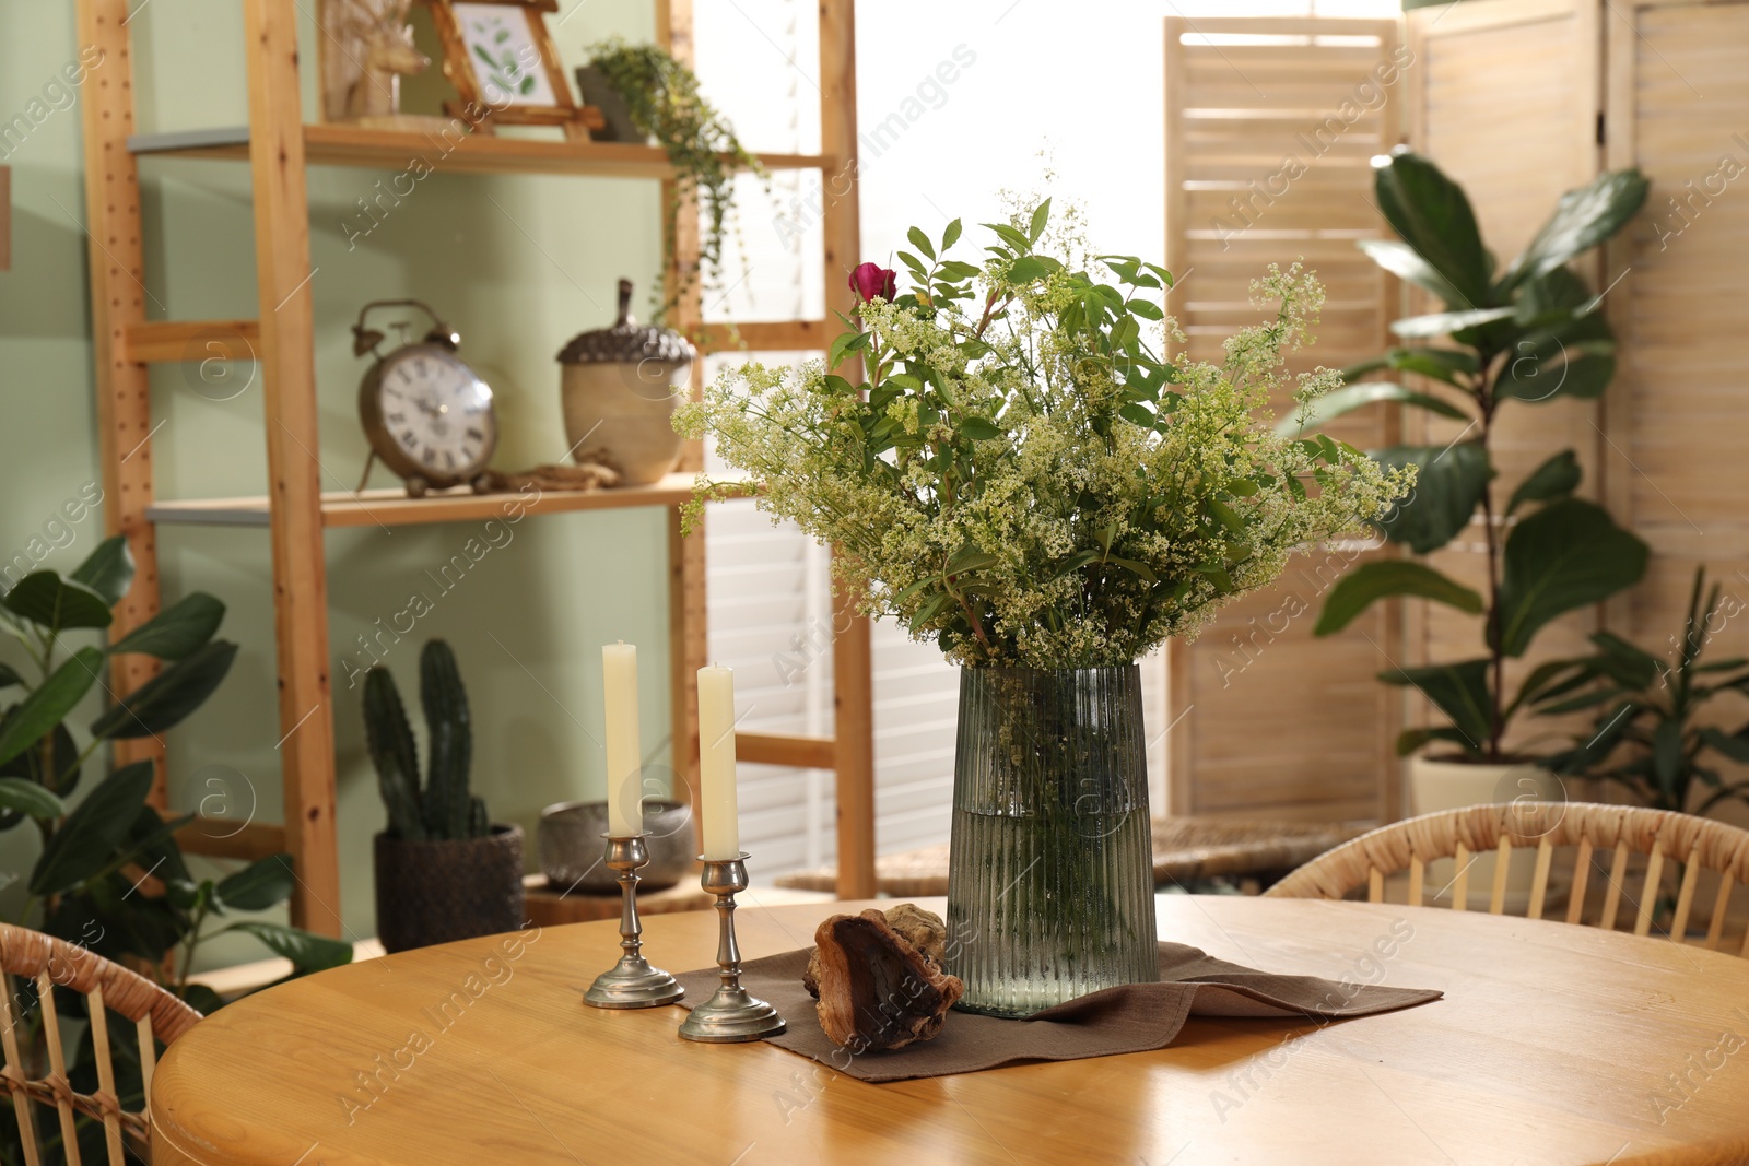
[[[1607,399],[1607,496],[1653,547],[1627,628],[1669,650],[1695,565],[1707,563],[1735,612],[1712,628],[1707,652],[1749,656],[1749,3],[1614,7],[1607,161],[1653,182],[1607,259],[1611,273],[1627,271],[1607,299],[1623,341]],[[1735,727],[1746,713],[1744,701],[1721,699],[1709,720]]]

